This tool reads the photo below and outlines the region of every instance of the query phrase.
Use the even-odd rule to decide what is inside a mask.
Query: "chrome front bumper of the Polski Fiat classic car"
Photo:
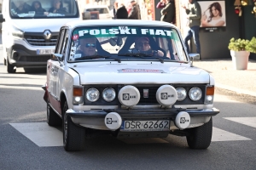
[[[105,116],[110,112],[116,112],[121,116],[122,121],[126,120],[159,120],[167,119],[171,121],[170,130],[177,129],[173,122],[177,114],[181,111],[186,111],[191,117],[191,124],[189,127],[198,127],[210,120],[211,116],[216,116],[219,110],[216,108],[203,109],[203,110],[186,110],[186,109],[114,109],[114,110],[101,110],[101,111],[74,111],[67,110],[67,115],[71,116],[73,122],[83,127],[90,127],[94,129],[110,130],[105,125]]]

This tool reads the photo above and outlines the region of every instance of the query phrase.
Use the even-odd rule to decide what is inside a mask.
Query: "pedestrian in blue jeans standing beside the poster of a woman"
[[[201,26],[201,6],[199,3],[197,3],[196,0],[188,0],[188,6],[183,5],[182,7],[186,10],[188,19],[187,26],[189,26],[187,36],[184,38],[187,52],[190,53],[188,42],[193,36],[196,47],[196,53],[201,54],[201,47],[199,41],[199,28]]]

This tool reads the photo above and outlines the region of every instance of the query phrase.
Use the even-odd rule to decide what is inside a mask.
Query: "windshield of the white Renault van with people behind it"
[[[13,19],[77,18],[74,0],[11,0],[10,15]]]

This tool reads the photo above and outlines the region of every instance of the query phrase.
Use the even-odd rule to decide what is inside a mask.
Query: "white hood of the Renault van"
[[[45,30],[58,32],[61,26],[73,20],[78,19],[19,19],[12,20],[12,22],[13,26],[25,32],[43,32]]]

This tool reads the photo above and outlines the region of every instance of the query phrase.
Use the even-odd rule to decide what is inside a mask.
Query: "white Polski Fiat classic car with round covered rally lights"
[[[176,26],[160,21],[84,20],[61,27],[47,63],[49,126],[61,126],[65,150],[86,138],[186,136],[189,148],[212,139],[214,79],[184,50]]]

